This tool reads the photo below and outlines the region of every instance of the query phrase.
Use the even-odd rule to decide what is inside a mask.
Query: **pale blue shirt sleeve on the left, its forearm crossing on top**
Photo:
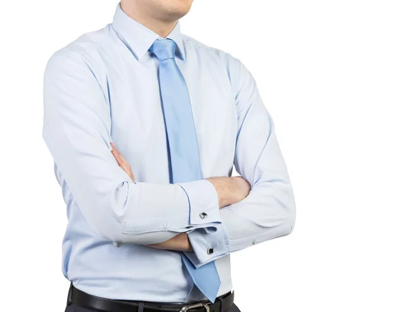
[[[43,138],[84,218],[115,244],[156,244],[221,224],[207,180],[133,182],[111,153],[110,103],[75,53],[56,53],[45,70]],[[207,216],[207,218],[203,218]]]

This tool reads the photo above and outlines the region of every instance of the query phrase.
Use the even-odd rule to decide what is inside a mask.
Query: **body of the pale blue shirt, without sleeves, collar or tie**
[[[238,131],[234,58],[182,35],[185,60],[176,57],[195,120],[203,177],[231,175]],[[131,165],[138,182],[170,183],[166,128],[158,85],[158,60],[148,51],[137,58],[112,25],[86,34],[60,53],[81,57],[110,107],[110,138]],[[234,70],[235,72],[235,70]],[[58,168],[69,224],[63,242],[64,275],[95,296],[125,300],[204,300],[179,252],[147,246],[115,246],[86,222]],[[161,194],[158,194],[161,196]],[[229,255],[216,260],[219,296],[232,289]]]

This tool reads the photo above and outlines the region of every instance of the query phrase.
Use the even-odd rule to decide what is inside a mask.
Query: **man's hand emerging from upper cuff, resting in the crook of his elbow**
[[[250,183],[243,177],[212,177],[206,180],[214,185],[220,208],[238,203],[251,191]]]

